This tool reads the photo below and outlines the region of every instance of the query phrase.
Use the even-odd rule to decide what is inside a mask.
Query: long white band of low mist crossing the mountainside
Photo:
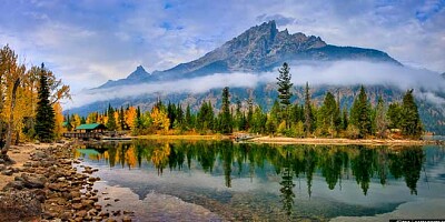
[[[416,93],[432,102],[443,104],[443,99],[433,92],[445,89],[445,80],[437,73],[387,63],[364,61],[339,61],[307,63],[290,67],[293,83],[304,85],[395,85],[400,90],[416,89]],[[96,101],[109,101],[137,95],[202,93],[211,89],[255,88],[258,83],[276,82],[277,72],[253,73],[216,73],[206,77],[172,80],[165,82],[141,83],[128,87],[86,90],[73,97],[68,108],[77,108]],[[419,93],[418,89],[427,92]]]

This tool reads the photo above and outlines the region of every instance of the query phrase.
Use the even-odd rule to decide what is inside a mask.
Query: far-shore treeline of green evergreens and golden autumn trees
[[[326,92],[324,102],[317,107],[312,102],[309,84],[306,83],[303,104],[290,104],[293,97],[289,68],[285,63],[277,78],[278,98],[266,112],[249,100],[247,109],[237,100],[230,104],[229,88],[224,88],[221,105],[215,111],[210,101],[204,101],[197,112],[190,105],[158,101],[150,111],[140,108],[111,105],[103,112],[89,113],[87,118],[77,114],[66,117],[72,127],[80,123],[99,122],[109,130],[131,130],[132,134],[171,133],[171,134],[210,134],[250,132],[294,138],[413,138],[423,133],[417,104],[413,90],[407,90],[403,101],[386,104],[383,99],[373,107],[362,85],[350,109],[339,105],[339,99]]]

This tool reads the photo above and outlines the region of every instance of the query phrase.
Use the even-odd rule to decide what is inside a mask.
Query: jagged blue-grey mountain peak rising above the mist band
[[[221,47],[191,62],[178,64],[151,75],[137,75],[99,88],[125,85],[131,82],[154,82],[202,77],[211,73],[271,71],[283,62],[365,60],[400,64],[387,53],[375,49],[337,47],[319,37],[278,31],[275,21],[264,22],[243,32]],[[139,68],[138,68],[139,69]],[[138,71],[138,70],[137,70]]]

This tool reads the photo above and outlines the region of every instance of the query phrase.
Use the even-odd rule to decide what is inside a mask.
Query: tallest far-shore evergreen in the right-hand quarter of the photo
[[[365,87],[360,87],[358,98],[354,100],[350,109],[350,124],[359,130],[359,138],[365,138],[370,133],[370,103],[365,92]]]

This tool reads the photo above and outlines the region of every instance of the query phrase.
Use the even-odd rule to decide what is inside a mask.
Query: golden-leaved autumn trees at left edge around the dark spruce
[[[48,79],[51,105],[60,113],[57,121],[63,121],[63,118],[60,118],[61,107],[58,101],[70,98],[70,88],[62,84],[49,70],[42,72],[39,67],[27,69],[18,62],[18,56],[9,46],[0,49],[0,138],[7,138],[9,144],[11,141],[17,143],[21,138],[32,139],[34,135],[41,73]],[[61,132],[59,127],[61,124],[56,125],[56,134]]]

